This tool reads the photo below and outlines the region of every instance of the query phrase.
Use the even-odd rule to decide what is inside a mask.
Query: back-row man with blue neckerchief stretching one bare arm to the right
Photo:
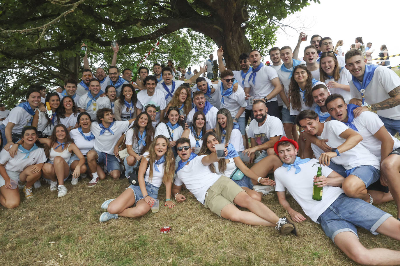
[[[160,90],[165,95],[166,104],[172,100],[176,89],[183,83],[194,83],[200,74],[204,73],[204,69],[200,67],[200,72],[191,77],[188,81],[174,80],[174,74],[170,67],[162,68],[162,79],[164,82],[158,83],[156,90]]]

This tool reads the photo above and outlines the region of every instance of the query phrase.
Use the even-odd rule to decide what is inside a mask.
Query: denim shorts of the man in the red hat
[[[357,228],[367,229],[372,234],[386,219],[392,216],[381,209],[366,203],[362,199],[349,198],[342,193],[329,207],[318,217],[325,234],[332,239],[342,232],[353,232],[357,235]]]

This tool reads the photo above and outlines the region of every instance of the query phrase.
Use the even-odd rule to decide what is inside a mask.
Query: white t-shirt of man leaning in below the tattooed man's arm
[[[358,129],[358,134],[360,134],[363,140],[360,142],[367,150],[380,159],[380,147],[382,142],[375,138],[374,134],[384,126],[382,120],[374,112],[362,112],[359,116],[353,120],[354,126]],[[390,134],[389,134],[390,135]],[[393,149],[400,147],[400,140],[390,135],[393,139]]]

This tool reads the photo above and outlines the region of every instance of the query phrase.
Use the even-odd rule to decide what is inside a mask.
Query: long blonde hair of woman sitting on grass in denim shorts
[[[148,149],[148,165],[150,166],[149,172],[149,181],[153,178],[153,164],[156,162],[156,153],[154,152],[154,148],[156,147],[156,142],[159,138],[163,138],[167,143],[167,150],[165,152],[165,162],[164,162],[164,175],[162,176],[162,183],[166,184],[167,182],[172,182],[172,178],[174,177],[175,171],[175,159],[174,153],[172,152],[172,147],[168,139],[163,135],[158,135],[154,138],[150,147]]]

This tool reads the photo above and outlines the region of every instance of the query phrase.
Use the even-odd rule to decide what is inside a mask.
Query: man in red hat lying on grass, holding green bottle
[[[284,164],[274,173],[278,201],[293,221],[300,223],[306,217],[292,209],[286,200],[286,189],[304,213],[315,223],[321,224],[325,234],[350,259],[363,265],[399,264],[399,251],[362,246],[356,226],[372,234],[381,233],[399,239],[400,221],[365,201],[344,195],[340,188],[344,178],[330,168],[321,166],[322,176],[316,177],[318,160],[296,157],[298,149],[295,144],[293,140],[276,143],[276,153]],[[312,199],[313,182],[323,187],[321,201]]]

